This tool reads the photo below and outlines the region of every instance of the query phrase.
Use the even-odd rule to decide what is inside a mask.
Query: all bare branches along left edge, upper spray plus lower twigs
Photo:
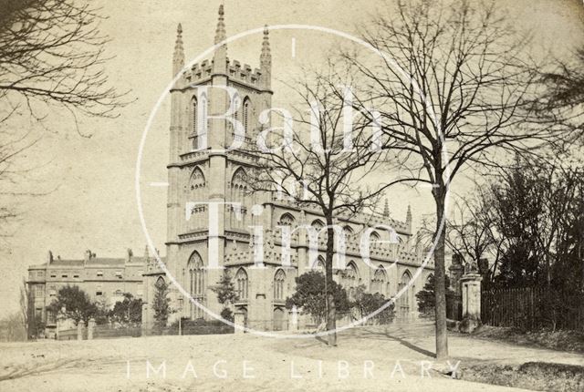
[[[78,116],[112,118],[127,103],[104,72],[102,19],[89,1],[0,0],[0,196],[30,195],[12,188],[31,170],[17,158],[39,141],[33,129],[47,128],[51,113],[68,114],[81,134]],[[0,207],[2,236],[16,216]]]

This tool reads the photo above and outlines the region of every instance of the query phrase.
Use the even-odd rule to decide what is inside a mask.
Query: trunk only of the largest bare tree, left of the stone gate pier
[[[436,306],[434,312],[436,315],[436,358],[444,359],[448,357],[448,335],[446,330],[446,286],[445,286],[445,267],[444,267],[444,238],[446,232],[446,222],[441,229],[441,223],[444,219],[446,190],[442,185],[435,189],[434,201],[436,202],[436,231],[434,239],[436,247],[434,248],[434,294],[436,296]]]

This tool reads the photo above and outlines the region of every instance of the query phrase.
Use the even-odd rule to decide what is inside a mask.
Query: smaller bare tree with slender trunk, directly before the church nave
[[[342,219],[369,211],[390,183],[368,186],[366,176],[379,166],[380,132],[374,121],[362,116],[347,119],[351,108],[338,97],[328,82],[346,81],[333,67],[328,73],[315,73],[293,87],[300,106],[296,118],[284,115],[282,128],[264,129],[258,138],[260,164],[250,183],[255,190],[278,193],[303,208],[314,208],[326,221],[325,287],[329,331],[328,346],[336,346],[336,308],[333,292],[335,240],[344,235],[334,225]],[[308,108],[308,115],[307,115]],[[301,129],[287,129],[294,124]],[[349,124],[349,125],[347,125]],[[349,127],[349,128],[347,128]],[[349,139],[350,142],[349,142]],[[260,146],[260,144],[264,144]],[[376,148],[376,146],[378,146]],[[339,226],[337,226],[339,227]]]

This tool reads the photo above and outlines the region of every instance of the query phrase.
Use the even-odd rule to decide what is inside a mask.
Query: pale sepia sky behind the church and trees
[[[579,0],[497,0],[509,7],[519,26],[533,28],[539,50],[561,53],[582,42],[584,5]],[[111,38],[106,65],[110,82],[130,90],[132,102],[117,119],[81,119],[79,134],[71,119],[53,116],[47,129],[22,120],[39,141],[16,162],[26,175],[16,191],[42,195],[11,200],[19,218],[12,236],[0,242],[0,317],[18,308],[18,291],[26,267],[45,263],[47,252],[81,258],[86,249],[101,256],[122,257],[127,248],[141,255],[145,247],[134,176],[138,147],[146,122],[171,80],[172,51],[178,23],[183,25],[187,61],[213,44],[218,5],[224,3],[227,35],[264,25],[304,24],[354,34],[355,26],[374,14],[381,2],[346,1],[202,1],[172,2],[95,0],[109,18],[101,30]],[[391,2],[390,2],[391,3]],[[294,39],[294,41],[293,41]],[[286,31],[271,35],[274,75],[318,59],[331,36]],[[292,42],[294,56],[292,56]],[[248,36],[229,46],[229,57],[259,66],[261,36]],[[278,97],[275,88],[275,100]],[[148,134],[142,160],[144,211],[149,232],[163,251],[166,232],[166,189],[150,182],[166,181],[169,108],[164,101]],[[456,184],[454,191],[456,189]],[[460,189],[464,191],[464,187]],[[425,193],[425,194],[422,194]],[[388,194],[392,217],[404,220],[412,205],[414,226],[433,212],[427,190],[393,190]]]

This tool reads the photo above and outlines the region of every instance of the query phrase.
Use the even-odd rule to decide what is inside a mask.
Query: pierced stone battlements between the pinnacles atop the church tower
[[[185,70],[183,72],[183,78],[186,84],[196,84],[211,77],[213,75],[213,63],[213,60],[203,60],[200,64],[193,64],[191,69]],[[260,77],[262,73],[259,68],[252,69],[248,64],[242,66],[239,61],[231,61],[229,59],[227,59],[226,65],[227,76],[231,80],[260,88]]]

